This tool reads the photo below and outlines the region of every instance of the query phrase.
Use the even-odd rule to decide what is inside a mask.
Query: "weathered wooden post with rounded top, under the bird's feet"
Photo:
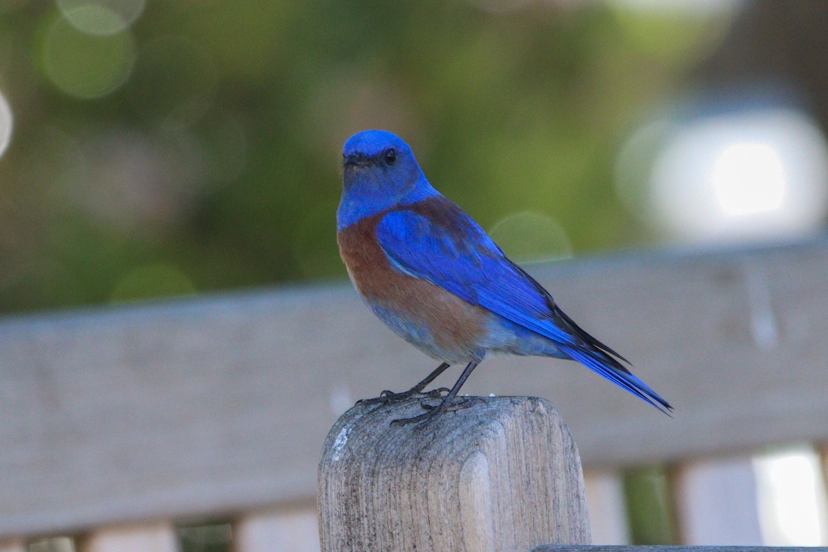
[[[526,552],[589,544],[580,458],[549,402],[469,400],[430,424],[421,400],[357,405],[319,466],[322,552]],[[436,400],[431,404],[436,404]]]

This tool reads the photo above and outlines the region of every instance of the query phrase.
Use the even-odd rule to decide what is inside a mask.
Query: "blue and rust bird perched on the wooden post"
[[[455,364],[465,369],[442,400],[397,423],[425,424],[452,410],[460,387],[489,354],[580,362],[667,415],[673,407],[587,334],[469,214],[431,186],[412,148],[383,130],[344,142],[336,212],[339,254],[359,295],[392,331],[440,361],[402,400]],[[442,395],[442,393],[445,395]],[[457,399],[459,402],[460,399]]]

